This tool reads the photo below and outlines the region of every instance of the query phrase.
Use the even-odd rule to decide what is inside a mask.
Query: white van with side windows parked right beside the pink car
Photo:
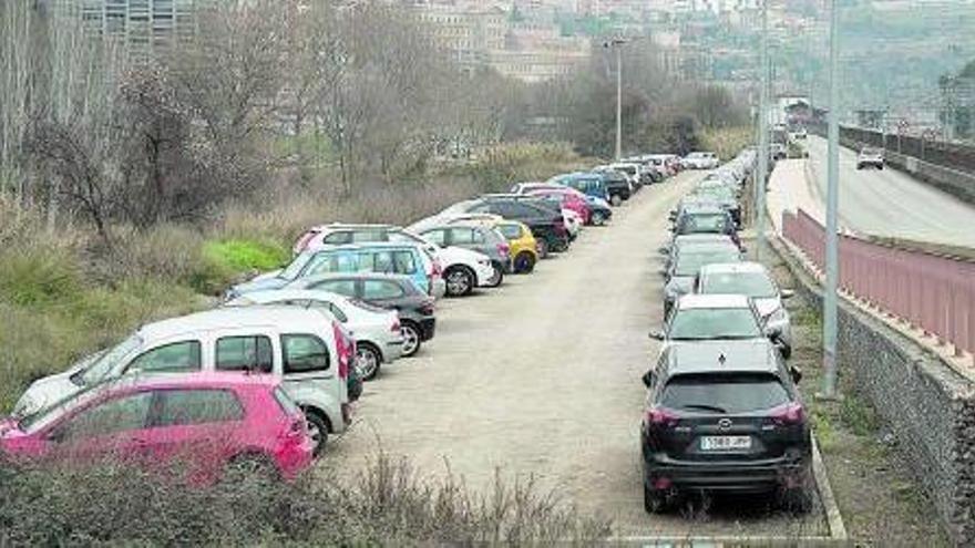
[[[351,422],[353,349],[339,348],[339,329],[330,314],[294,307],[217,309],[150,323],[85,366],[35,381],[14,414],[34,413],[126,375],[257,371],[281,379],[305,411],[319,454],[328,435],[345,432]]]

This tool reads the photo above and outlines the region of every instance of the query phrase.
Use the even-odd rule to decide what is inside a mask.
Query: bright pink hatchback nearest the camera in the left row
[[[123,378],[0,422],[0,454],[10,458],[178,461],[192,483],[213,483],[243,461],[294,478],[312,445],[278,381],[245,373]]]

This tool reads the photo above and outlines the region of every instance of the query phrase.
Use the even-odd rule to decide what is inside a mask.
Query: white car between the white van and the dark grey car
[[[376,379],[383,364],[392,363],[403,355],[406,339],[396,310],[315,289],[255,291],[226,303],[227,307],[255,304],[314,308],[330,313],[352,334],[356,341],[356,368],[367,381]]]

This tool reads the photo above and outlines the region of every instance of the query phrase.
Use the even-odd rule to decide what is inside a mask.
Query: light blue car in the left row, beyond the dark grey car
[[[409,276],[425,293],[431,293],[435,267],[415,244],[367,242],[304,251],[283,270],[258,276],[230,288],[227,300],[252,291],[280,289],[309,276],[329,272],[379,272]]]

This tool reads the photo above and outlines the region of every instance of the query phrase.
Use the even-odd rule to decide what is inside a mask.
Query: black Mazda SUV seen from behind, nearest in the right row
[[[808,511],[812,442],[796,383],[767,340],[670,343],[644,375],[644,507],[686,492],[777,493]]]

